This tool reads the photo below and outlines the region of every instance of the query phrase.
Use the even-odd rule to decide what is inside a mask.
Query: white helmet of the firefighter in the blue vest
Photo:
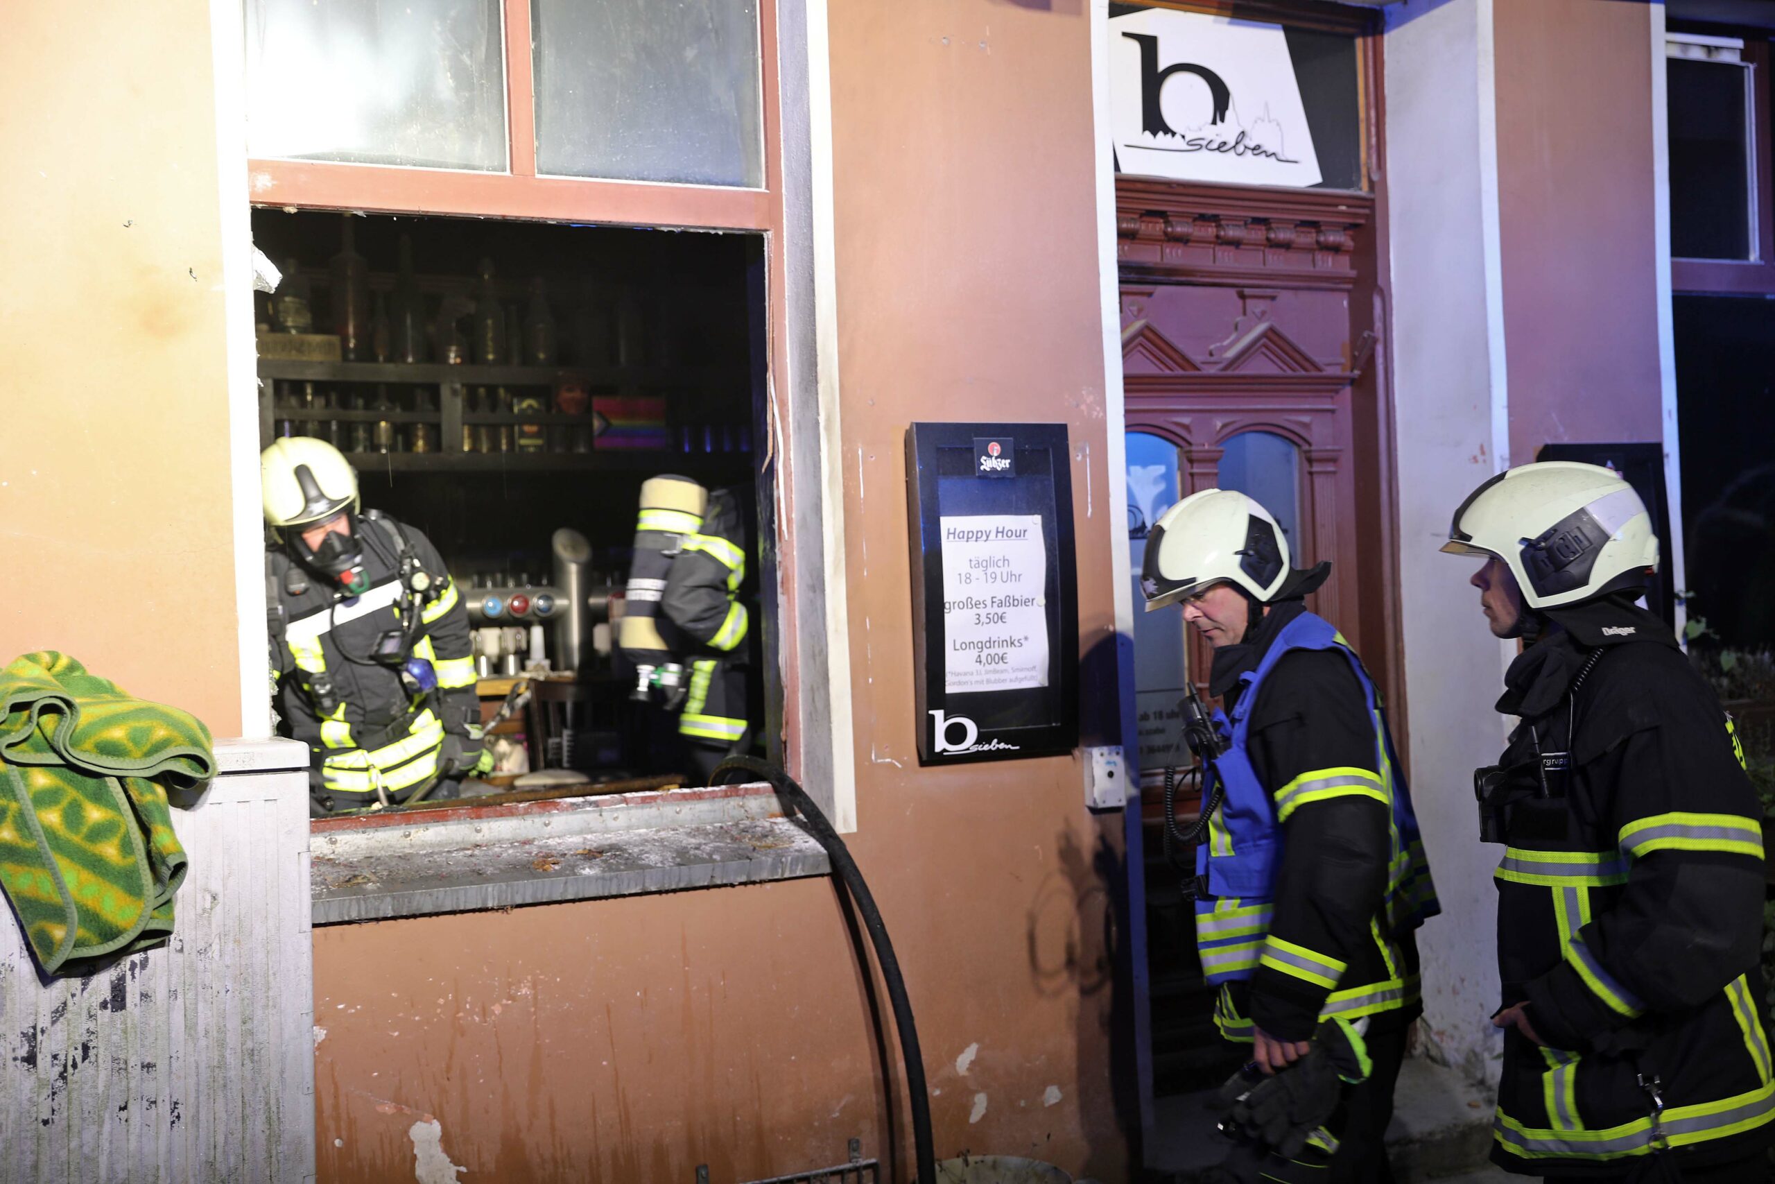
[[[1152,612],[1223,582],[1267,604],[1287,579],[1289,540],[1274,515],[1244,493],[1202,490],[1152,527],[1140,589]]]

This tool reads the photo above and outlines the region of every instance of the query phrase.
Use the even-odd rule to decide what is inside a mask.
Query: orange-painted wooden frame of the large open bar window
[[[792,2],[792,9],[797,5]],[[779,73],[779,0],[758,4],[760,133],[763,138],[763,188],[559,178],[536,172],[534,78],[531,67],[531,0],[504,0],[502,39],[506,62],[504,172],[467,169],[417,169],[309,160],[247,160],[248,201],[256,208],[318,211],[392,213],[426,217],[477,217],[561,224],[635,225],[662,229],[754,233],[765,240],[765,366],[772,440],[761,449],[774,485],[774,556],[777,566],[776,611],[781,621],[776,664],[767,671],[765,722],[779,726],[767,737],[772,753],[781,744],[785,765],[806,779],[825,770],[834,785],[809,783],[816,801],[836,806],[840,829],[854,829],[854,786],[847,770],[827,769],[838,754],[822,753],[813,735],[820,714],[797,710],[801,701],[801,621],[797,618],[797,568],[820,570],[822,543],[790,538],[795,518],[793,465],[777,456],[777,446],[795,451],[795,440],[818,431],[816,408],[797,410],[783,391],[790,373],[790,312],[786,295],[785,227],[790,211],[783,185],[783,94]],[[797,9],[799,11],[799,9]],[[822,396],[824,398],[824,396]],[[834,392],[836,398],[836,392]],[[815,483],[816,485],[816,483]],[[813,504],[824,499],[813,488]],[[825,508],[822,513],[831,515]],[[777,685],[770,685],[772,675]],[[813,673],[818,678],[818,671]],[[806,715],[806,719],[804,719]],[[827,793],[836,793],[834,802]]]

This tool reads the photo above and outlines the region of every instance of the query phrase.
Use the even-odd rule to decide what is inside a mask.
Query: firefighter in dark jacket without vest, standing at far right
[[[1521,465],[1443,550],[1486,561],[1486,621],[1525,641],[1498,699],[1518,724],[1475,774],[1480,838],[1503,845],[1493,1161],[1768,1179],[1761,809],[1731,717],[1637,604],[1658,566],[1644,502],[1610,469]]]

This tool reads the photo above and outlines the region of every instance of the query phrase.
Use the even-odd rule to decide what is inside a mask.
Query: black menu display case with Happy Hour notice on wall
[[[918,760],[1079,742],[1077,559],[1065,424],[912,424]]]

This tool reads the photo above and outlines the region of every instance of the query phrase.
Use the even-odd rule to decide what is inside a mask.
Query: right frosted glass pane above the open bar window
[[[763,188],[756,0],[534,0],[536,170]]]

